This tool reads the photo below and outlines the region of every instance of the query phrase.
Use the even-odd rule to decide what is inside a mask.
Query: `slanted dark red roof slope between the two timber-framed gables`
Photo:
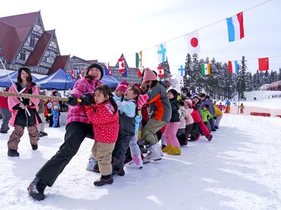
[[[28,57],[25,66],[38,66],[40,59],[43,56],[45,49],[48,47],[48,43],[50,42],[54,33],[55,30],[44,32],[44,34],[39,38],[35,49],[30,54],[30,57]]]

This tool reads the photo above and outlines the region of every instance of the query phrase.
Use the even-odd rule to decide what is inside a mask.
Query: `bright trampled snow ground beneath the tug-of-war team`
[[[264,104],[266,106],[266,104]],[[126,168],[112,185],[85,170],[93,141],[76,156],[38,202],[27,193],[34,175],[63,143],[64,127],[46,127],[38,151],[25,131],[19,158],[8,158],[0,134],[0,209],[281,209],[281,119],[224,115],[210,142],[189,143],[182,155],[164,155],[143,169]]]

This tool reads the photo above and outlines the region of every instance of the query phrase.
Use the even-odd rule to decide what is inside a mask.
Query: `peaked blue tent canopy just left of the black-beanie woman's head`
[[[76,80],[69,80],[65,71],[58,69],[55,73],[37,80],[36,83],[41,85],[41,89],[67,90],[73,88]]]

